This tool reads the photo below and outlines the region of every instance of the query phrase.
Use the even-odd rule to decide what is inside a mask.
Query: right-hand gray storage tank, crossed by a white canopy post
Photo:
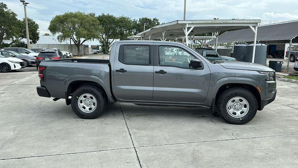
[[[254,45],[250,44],[247,46],[246,51],[246,62],[252,62],[252,51]],[[266,58],[267,58],[267,45],[265,44],[256,44],[256,51],[254,55],[254,63],[266,65]]]

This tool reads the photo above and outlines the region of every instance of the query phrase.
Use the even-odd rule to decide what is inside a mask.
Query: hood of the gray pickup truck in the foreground
[[[228,69],[241,69],[250,71],[267,71],[273,72],[274,70],[264,65],[255,64],[251,62],[240,62],[240,61],[229,61],[229,60],[218,60],[221,62],[220,65]]]

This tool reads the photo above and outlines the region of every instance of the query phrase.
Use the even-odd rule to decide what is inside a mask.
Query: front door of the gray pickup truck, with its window
[[[168,48],[180,52],[167,55]],[[210,81],[208,66],[200,70],[190,68],[190,60],[196,57],[182,48],[156,45],[155,50],[158,52],[154,55],[153,101],[204,102]]]

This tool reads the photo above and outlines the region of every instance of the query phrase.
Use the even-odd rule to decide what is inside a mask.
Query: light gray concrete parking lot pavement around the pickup
[[[38,85],[36,67],[0,73],[1,168],[298,165],[296,83],[277,80],[274,102],[244,125],[206,108],[125,103],[86,120],[65,100],[39,97]]]

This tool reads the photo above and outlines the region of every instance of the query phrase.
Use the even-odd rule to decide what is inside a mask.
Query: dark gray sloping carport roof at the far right
[[[292,43],[298,43],[297,36],[298,20],[259,26],[257,31],[257,41],[264,44],[286,44],[290,43],[292,38],[294,38]],[[241,29],[227,31],[218,36],[218,43],[227,42],[253,43],[254,32],[252,32],[251,29]],[[207,42],[207,44],[215,43],[215,39]]]

